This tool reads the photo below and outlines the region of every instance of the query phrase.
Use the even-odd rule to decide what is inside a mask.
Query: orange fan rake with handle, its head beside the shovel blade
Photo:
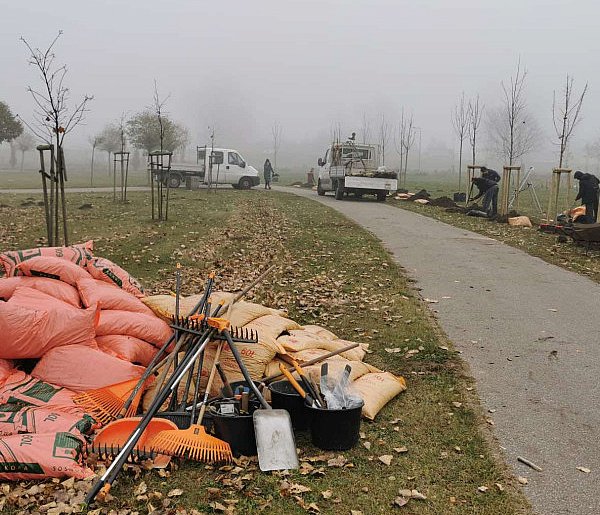
[[[208,324],[216,329],[228,326],[226,320],[219,318],[209,318]],[[198,414],[198,420],[188,429],[167,430],[157,434],[151,442],[152,448],[156,451],[171,456],[179,456],[180,458],[189,458],[195,461],[229,462],[233,459],[229,444],[219,438],[207,434],[204,426],[201,425],[202,418],[206,411],[208,395],[215,378],[217,369],[215,365],[221,356],[222,348],[223,342],[221,341],[217,346],[215,360],[210,371],[208,383],[206,384],[206,393],[204,394],[202,407]]]

